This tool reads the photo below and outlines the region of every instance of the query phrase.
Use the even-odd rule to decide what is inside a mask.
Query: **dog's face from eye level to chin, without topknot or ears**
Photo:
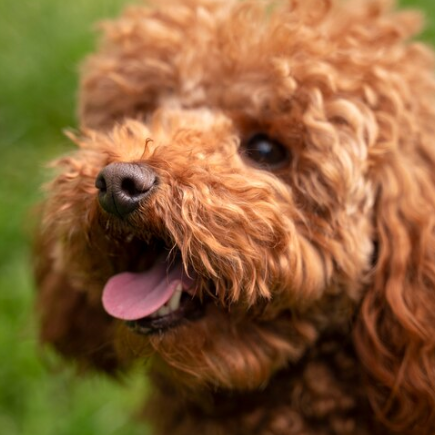
[[[219,107],[162,108],[80,140],[68,165],[81,175],[61,189],[77,233],[60,249],[77,285],[128,322],[123,354],[153,349],[199,382],[247,388],[349,320],[371,243],[354,150],[346,169],[328,156],[337,189],[349,183],[340,204],[326,178],[303,173],[326,164],[303,145],[308,132],[239,122]]]

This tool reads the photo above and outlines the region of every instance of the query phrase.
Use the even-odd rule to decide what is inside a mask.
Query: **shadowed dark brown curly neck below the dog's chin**
[[[374,435],[361,373],[349,340],[324,337],[264,389],[188,395],[154,374],[147,414],[158,435]],[[385,432],[382,432],[385,433]]]

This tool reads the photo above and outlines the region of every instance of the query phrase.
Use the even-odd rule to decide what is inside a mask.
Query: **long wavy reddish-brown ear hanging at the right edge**
[[[376,170],[374,269],[354,334],[378,417],[419,435],[435,428],[435,155],[424,136]]]

